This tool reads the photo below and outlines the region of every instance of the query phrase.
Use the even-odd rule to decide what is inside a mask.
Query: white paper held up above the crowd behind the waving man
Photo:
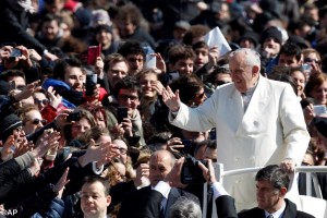
[[[219,50],[219,57],[231,51],[229,44],[222,35],[220,28],[217,26],[204,36],[205,43],[209,48],[217,47]]]

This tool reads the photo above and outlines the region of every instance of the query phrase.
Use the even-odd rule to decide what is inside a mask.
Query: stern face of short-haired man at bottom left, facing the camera
[[[81,208],[84,217],[105,217],[111,197],[106,196],[105,186],[100,182],[84,184],[81,190]]]

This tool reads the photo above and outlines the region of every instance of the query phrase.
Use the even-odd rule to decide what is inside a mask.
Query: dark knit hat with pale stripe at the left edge
[[[7,141],[7,138],[13,133],[13,131],[20,126],[22,126],[23,123],[21,119],[11,113],[7,116],[1,122],[0,122],[0,138],[2,143]]]

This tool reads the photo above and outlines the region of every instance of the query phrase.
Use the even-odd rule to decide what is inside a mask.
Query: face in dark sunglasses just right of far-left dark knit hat
[[[36,130],[44,126],[43,121],[44,119],[38,110],[31,110],[26,112],[23,126],[24,132],[27,135],[34,133]]]

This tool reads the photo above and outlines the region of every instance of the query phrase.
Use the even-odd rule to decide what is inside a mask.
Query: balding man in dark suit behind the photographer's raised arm
[[[121,204],[119,218],[144,218],[144,208],[146,207],[152,189],[155,187],[159,181],[162,181],[170,172],[175,162],[174,156],[168,150],[158,150],[154,153],[149,160],[149,181],[150,185],[136,190],[126,194]],[[193,198],[199,205],[198,198],[177,187],[165,187],[162,197],[154,204],[154,208],[158,211],[160,218],[168,218],[168,210],[173,203],[180,197]]]

